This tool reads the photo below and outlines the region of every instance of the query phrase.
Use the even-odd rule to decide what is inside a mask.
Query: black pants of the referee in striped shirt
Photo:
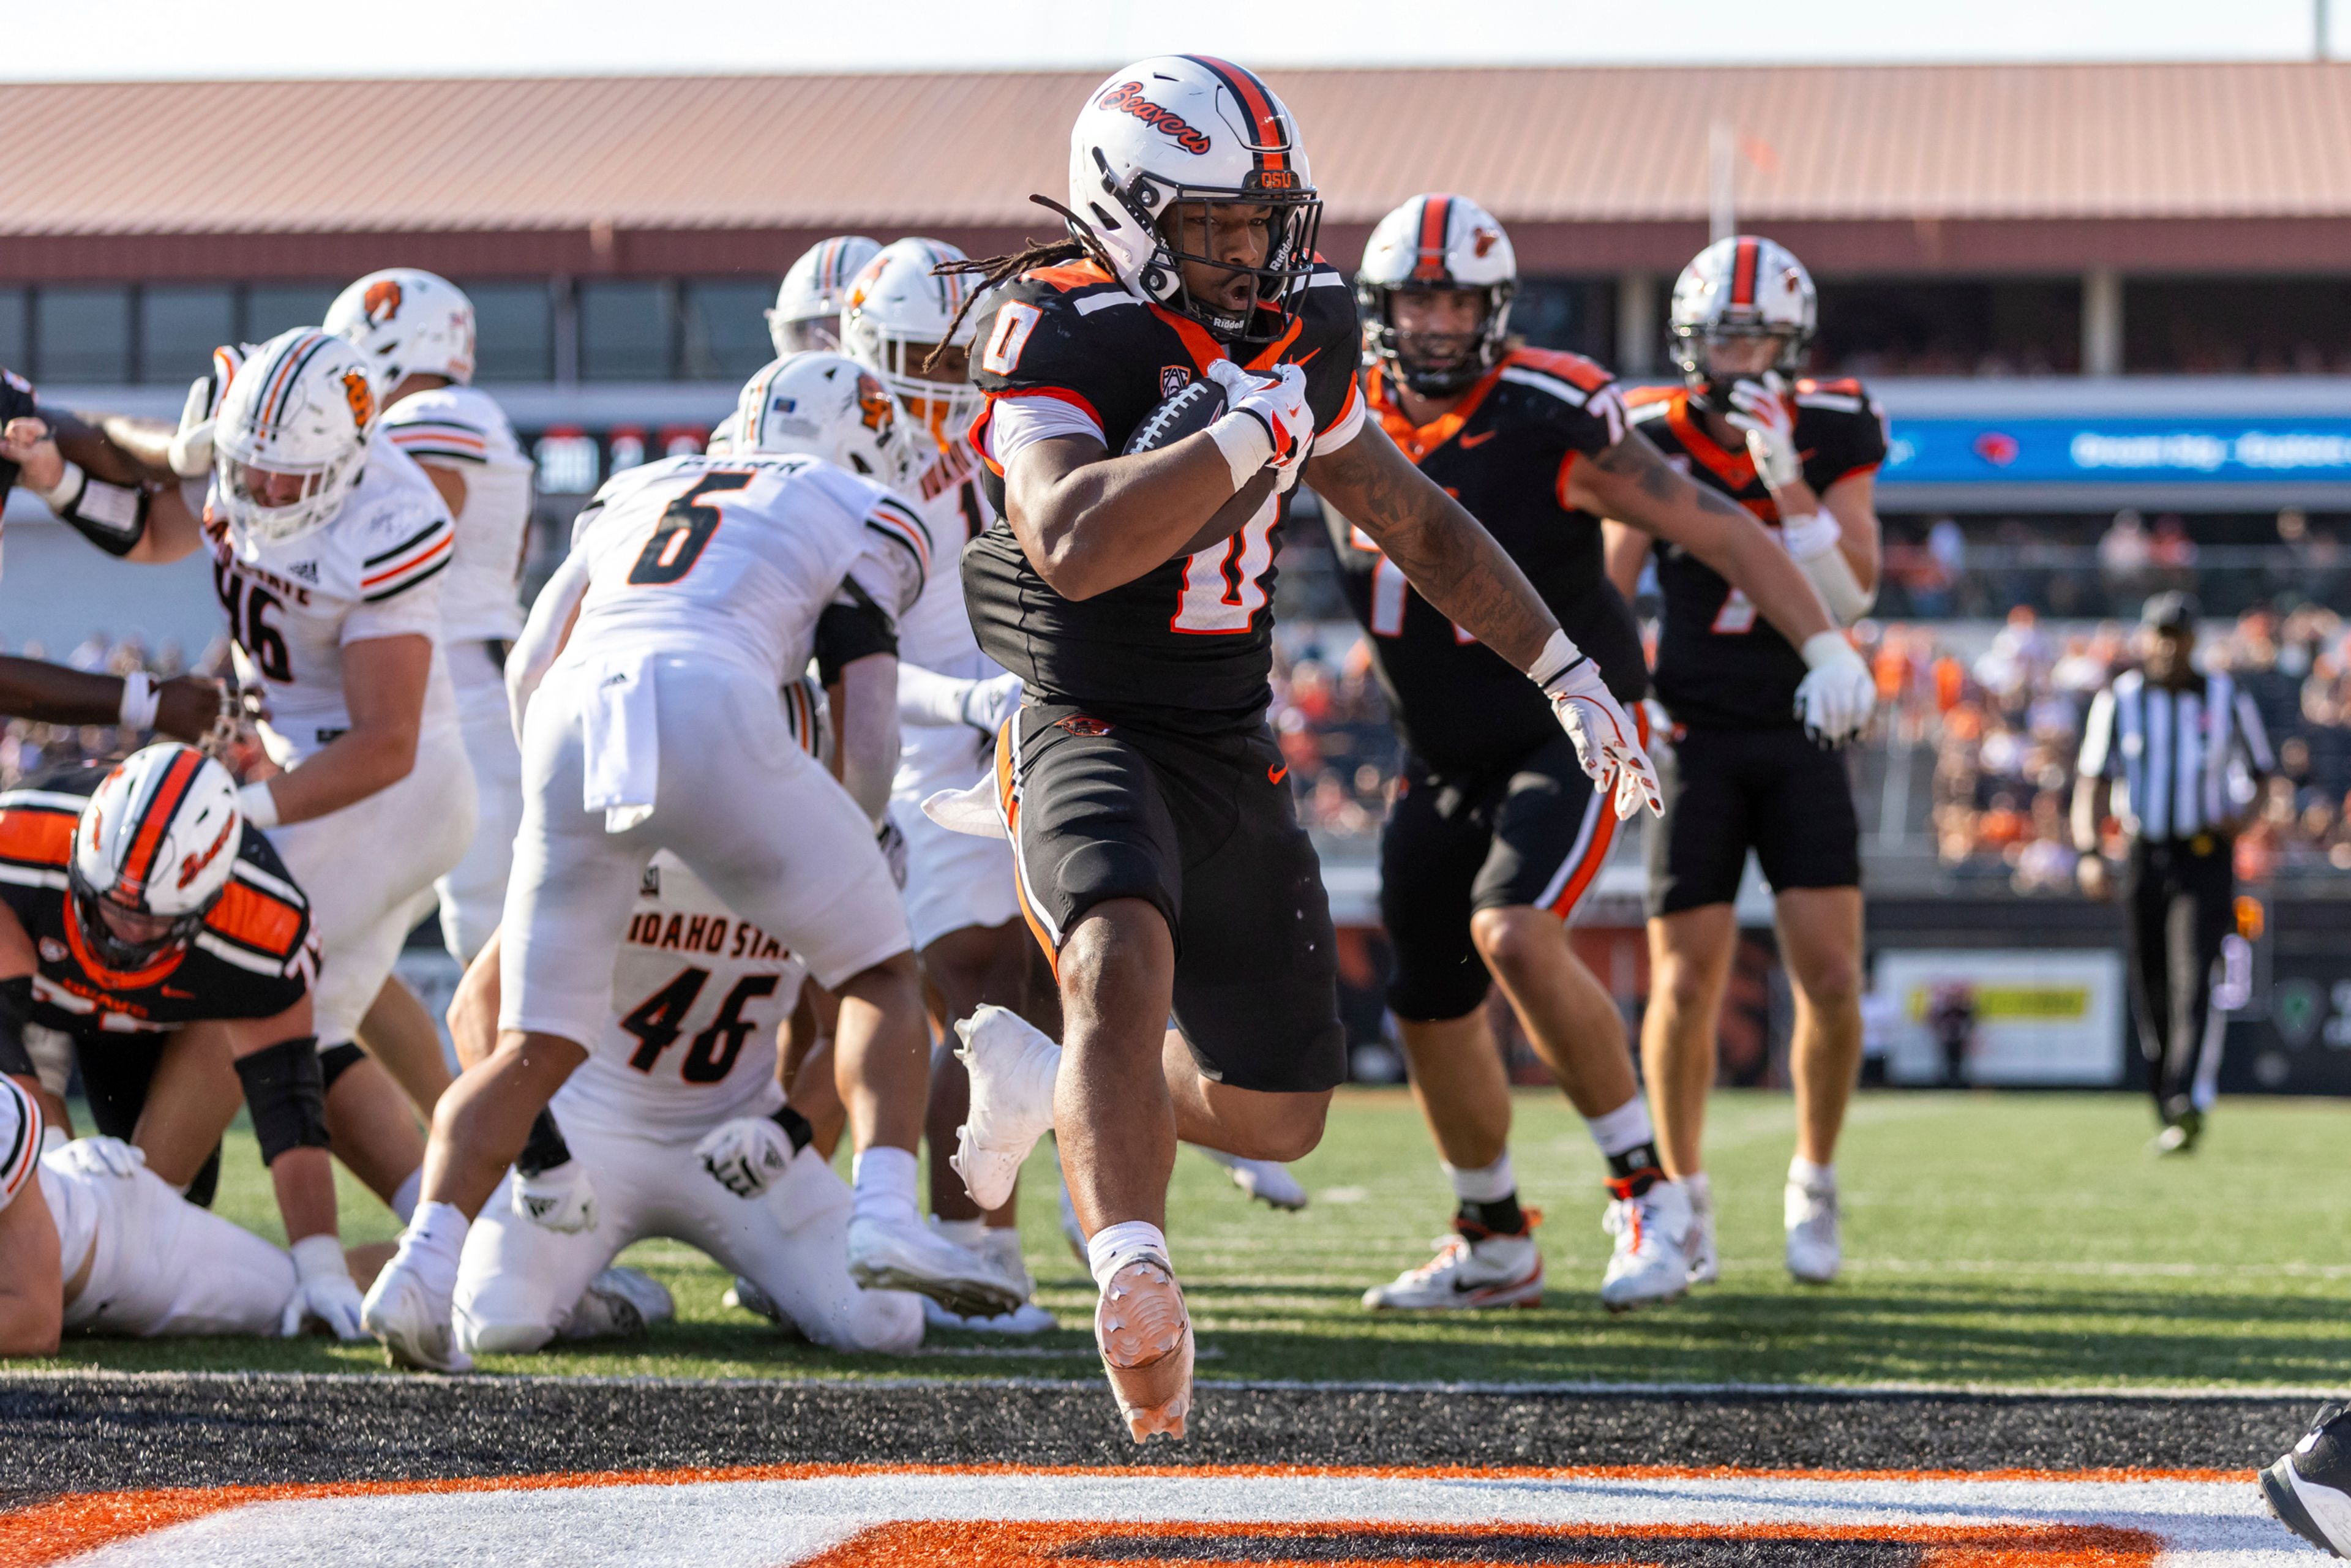
[[[2130,1011],[2154,1067],[2156,1110],[2196,1107],[2198,1070],[2219,1074],[2226,1018],[2212,1011],[2219,945],[2236,924],[2233,849],[2219,835],[2137,842],[2125,875]]]

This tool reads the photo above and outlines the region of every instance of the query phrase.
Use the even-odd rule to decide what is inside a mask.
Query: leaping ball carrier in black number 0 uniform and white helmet
[[[1650,773],[1526,576],[1366,423],[1354,296],[1314,254],[1298,127],[1255,75],[1204,56],[1112,75],[1079,110],[1065,212],[1070,244],[973,263],[994,284],[976,444],[1004,522],[964,548],[964,592],[1027,691],[997,811],[1067,1041],[969,1023],[957,1171],[990,1208],[1056,1128],[1103,1366],[1143,1439],[1183,1432],[1192,1387],[1161,1234],[1176,1140],[1295,1159],[1347,1065],[1321,867],[1265,726],[1277,491],[1305,477],[1547,691],[1622,811]],[[1225,414],[1128,451],[1194,381]]]

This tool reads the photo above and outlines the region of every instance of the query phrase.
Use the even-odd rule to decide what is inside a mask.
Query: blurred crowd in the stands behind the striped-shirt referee
[[[1935,748],[1933,835],[1963,877],[2005,877],[2020,893],[2074,889],[2069,827],[2074,752],[2090,698],[2137,661],[2135,630],[2102,623],[2052,635],[2012,609],[1972,661],[1935,630],[1886,625],[1876,637],[1886,733]],[[2269,882],[2351,870],[2351,639],[2330,609],[2257,609],[2208,632],[2198,663],[2252,696],[2278,755],[2259,797],[2243,799],[2238,877]],[[2243,783],[2250,792],[2250,780]],[[2109,853],[2118,827],[2104,825]]]

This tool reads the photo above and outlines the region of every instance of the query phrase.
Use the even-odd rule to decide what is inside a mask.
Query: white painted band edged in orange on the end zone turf
[[[2245,1481],[1810,1481],[1766,1476],[1056,1476],[865,1474],[555,1490],[303,1497],[226,1509],[85,1566],[331,1561],[806,1561],[891,1521],[1380,1521],[1493,1526],[2121,1526],[2168,1568],[2280,1568],[2306,1547]]]

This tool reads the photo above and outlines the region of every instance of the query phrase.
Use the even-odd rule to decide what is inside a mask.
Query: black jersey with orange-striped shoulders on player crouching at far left
[[[108,773],[82,764],[0,792],[0,903],[33,938],[33,1018],[52,1030],[172,1030],[214,1018],[275,1018],[310,990],[310,903],[268,837],[245,823],[237,865],[205,926],[139,971],[108,969],[82,940],[66,889],[73,825]]]

